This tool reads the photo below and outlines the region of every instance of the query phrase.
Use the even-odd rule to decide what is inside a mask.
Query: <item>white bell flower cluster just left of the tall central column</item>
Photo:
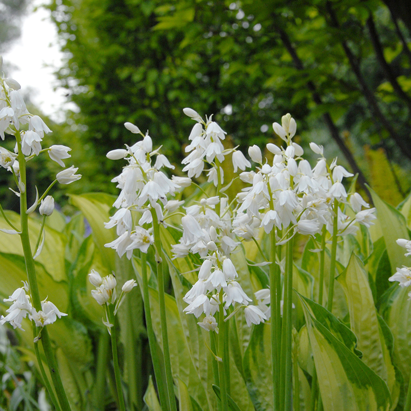
[[[119,176],[111,180],[117,182],[117,187],[121,189],[113,204],[119,210],[105,223],[105,227],[116,227],[118,238],[105,247],[113,248],[120,257],[126,254],[127,258],[131,258],[133,250],[139,249],[146,253],[154,242],[152,229],[146,230],[141,226],[153,222],[152,212],[163,223],[164,215],[173,212],[180,205],[179,202],[169,201],[167,196],[173,196],[181,187],[190,185],[191,179],[167,177],[160,169],[174,169],[174,166],[159,153],[161,147],[153,151],[153,142],[148,134],[143,135],[132,123],[124,125],[130,132],[141,134],[143,140],[132,146],[126,145],[126,150],[118,149],[107,153],[109,159],[125,159],[128,165]],[[132,211],[140,213],[138,222],[133,220]]]

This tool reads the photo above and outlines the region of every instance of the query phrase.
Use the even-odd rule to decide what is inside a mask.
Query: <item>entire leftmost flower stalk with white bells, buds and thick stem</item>
[[[2,63],[3,60],[0,57],[0,69]],[[41,153],[48,153],[51,160],[65,167],[62,160],[70,157],[68,152],[71,149],[63,145],[52,145],[49,148],[42,149],[44,135],[50,133],[51,130],[39,116],[34,116],[29,113],[18,91],[20,88],[20,84],[18,84],[17,81],[11,78],[5,78],[4,73],[2,73],[0,77],[0,137],[4,140],[6,135],[14,136],[16,145],[14,153],[6,150],[4,147],[0,147],[0,165],[13,175],[13,180],[16,184],[15,189],[10,189],[20,198],[20,229],[14,227],[6,217],[3,208],[0,207],[0,209],[5,221],[10,226],[10,229],[2,229],[1,231],[11,235],[20,235],[28,281],[22,288],[18,288],[9,298],[5,299],[7,302],[12,302],[12,305],[7,310],[9,314],[1,317],[0,324],[9,322],[14,328],[22,329],[22,320],[25,317],[28,317],[29,320],[32,321],[35,344],[34,351],[45,385],[55,407],[66,411],[70,410],[70,405],[60,378],[59,368],[54,358],[46,326],[55,322],[58,317],[61,318],[67,314],[61,312],[50,301],[47,301],[47,298],[41,301],[34,259],[40,255],[44,246],[45,218],[49,216],[54,209],[54,200],[51,196],[46,197],[46,194],[55,183],[69,184],[78,180],[81,175],[75,175],[74,173],[77,169],[73,167],[58,173],[54,182],[40,198],[36,188],[35,201],[28,207],[27,161],[35,156],[39,156]],[[40,202],[39,212],[43,215],[43,223],[33,252],[29,238],[28,218],[29,214],[38,208]],[[38,346],[36,346],[39,341],[41,341],[43,345],[57,399],[52,392],[50,383],[43,369],[40,351]]]

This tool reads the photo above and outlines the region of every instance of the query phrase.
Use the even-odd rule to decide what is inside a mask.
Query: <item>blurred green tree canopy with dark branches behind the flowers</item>
[[[289,112],[303,146],[338,147],[361,183],[371,174],[365,145],[383,149],[391,171],[408,167],[408,0],[53,0],[50,9],[67,57],[59,78],[105,174],[105,153],[132,142],[126,121],[177,161],[192,126],[186,106],[214,114],[244,147],[275,139],[272,122]]]

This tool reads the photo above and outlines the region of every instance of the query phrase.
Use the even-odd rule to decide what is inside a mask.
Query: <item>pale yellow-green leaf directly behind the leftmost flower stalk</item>
[[[20,227],[20,215],[12,211],[7,211],[6,215],[16,228]],[[41,222],[32,217],[29,217],[28,222],[31,251],[34,255],[34,248],[39,237]],[[7,226],[7,223],[2,216],[0,216],[0,227],[10,228]],[[36,261],[44,265],[46,271],[55,279],[55,281],[66,280],[66,267],[64,261],[65,236],[47,226],[45,226],[44,232],[46,236],[44,247],[41,254],[36,258]],[[0,252],[23,255],[20,236],[17,234],[10,235],[0,232]]]

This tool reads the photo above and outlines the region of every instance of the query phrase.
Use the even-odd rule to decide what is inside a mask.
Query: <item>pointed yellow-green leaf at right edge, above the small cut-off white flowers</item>
[[[409,239],[405,218],[398,210],[382,200],[376,192],[370,189],[370,193],[377,209],[376,225],[380,226],[384,236],[391,263],[391,272],[394,274],[397,267],[408,264],[408,259],[404,256],[404,249],[396,242],[398,238]]]

